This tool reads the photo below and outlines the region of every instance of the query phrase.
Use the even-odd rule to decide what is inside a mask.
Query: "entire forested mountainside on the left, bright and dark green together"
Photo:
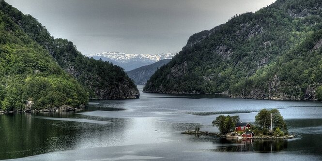
[[[89,98],[138,98],[121,67],[84,57],[31,15],[0,0],[0,109],[83,107]],[[27,103],[31,102],[31,103]]]

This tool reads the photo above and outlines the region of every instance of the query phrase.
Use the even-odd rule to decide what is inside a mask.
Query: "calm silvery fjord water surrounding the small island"
[[[196,126],[218,132],[211,122],[221,114],[254,122],[262,108],[277,108],[296,137],[243,141],[180,133]],[[322,160],[321,102],[141,93],[136,100],[92,100],[77,113],[11,114],[0,120],[1,160]]]

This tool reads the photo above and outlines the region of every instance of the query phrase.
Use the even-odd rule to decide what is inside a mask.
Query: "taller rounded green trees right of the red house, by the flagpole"
[[[272,122],[272,124],[271,124]],[[274,131],[274,134],[288,134],[287,126],[284,118],[277,109],[262,109],[255,117],[255,123],[260,126],[259,130],[263,134],[267,134],[268,130]]]

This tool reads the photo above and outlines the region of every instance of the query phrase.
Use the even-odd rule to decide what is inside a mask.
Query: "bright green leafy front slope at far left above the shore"
[[[0,11],[0,111],[83,107],[89,93]]]

